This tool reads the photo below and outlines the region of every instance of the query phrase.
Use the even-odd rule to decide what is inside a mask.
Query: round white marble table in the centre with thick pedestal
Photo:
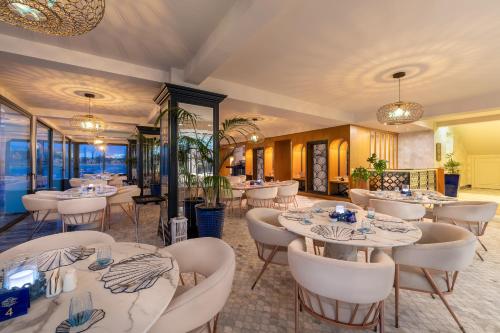
[[[422,237],[419,228],[399,218],[376,213],[374,219],[368,219],[364,210],[351,209],[351,211],[356,214],[355,223],[333,222],[328,210],[315,212],[312,207],[291,209],[280,214],[278,220],[290,232],[324,242],[325,256],[350,261],[356,261],[357,248],[393,248],[413,244]],[[308,224],[301,217],[306,217]],[[362,227],[363,220],[370,221],[371,230],[367,233],[358,231]],[[326,226],[327,229],[317,226]],[[391,229],[405,231],[391,231]],[[319,234],[318,230],[323,231],[323,234]],[[339,231],[351,234],[352,238],[336,237],[335,233]]]

